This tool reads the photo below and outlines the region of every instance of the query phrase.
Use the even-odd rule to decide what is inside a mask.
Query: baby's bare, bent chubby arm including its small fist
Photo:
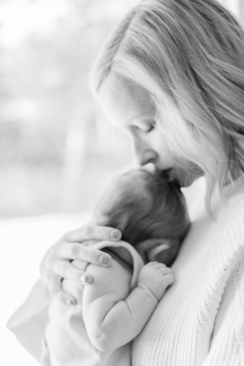
[[[89,265],[87,272],[94,280],[83,293],[86,330],[101,351],[116,349],[134,339],[173,282],[169,268],[150,262],[142,268],[138,286],[129,293],[131,269],[117,256],[112,257],[109,268]]]

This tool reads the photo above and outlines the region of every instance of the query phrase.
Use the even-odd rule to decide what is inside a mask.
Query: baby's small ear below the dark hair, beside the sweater
[[[154,261],[164,263],[167,267],[170,267],[173,264],[174,259],[176,258],[176,255],[178,253],[179,247],[180,247],[180,240],[179,239],[162,239],[162,244],[165,244],[164,246],[159,246],[158,249],[160,251],[155,251],[153,257]],[[155,248],[157,249],[157,248]],[[151,250],[151,254],[153,254],[153,249]],[[152,260],[150,258],[150,260]]]

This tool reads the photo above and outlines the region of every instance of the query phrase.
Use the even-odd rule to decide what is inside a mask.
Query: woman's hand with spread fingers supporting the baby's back
[[[90,244],[102,240],[117,241],[120,238],[121,232],[117,229],[90,224],[68,232],[48,250],[43,258],[40,267],[42,284],[48,288],[50,295],[61,302],[75,305],[74,296],[63,291],[62,279],[70,278],[80,285],[91,283],[92,278],[84,272],[82,264],[88,262],[109,266],[111,257],[101,250],[93,249]],[[74,259],[79,259],[81,265],[77,266],[77,260],[73,265],[71,262]]]

